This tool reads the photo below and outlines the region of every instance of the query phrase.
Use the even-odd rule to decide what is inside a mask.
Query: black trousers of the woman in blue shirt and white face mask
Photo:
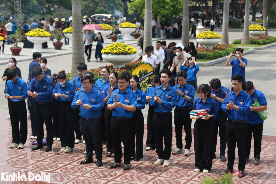
[[[75,146],[75,121],[74,121],[74,109],[71,107],[70,101],[61,101],[58,109],[59,119],[59,135],[61,147]]]

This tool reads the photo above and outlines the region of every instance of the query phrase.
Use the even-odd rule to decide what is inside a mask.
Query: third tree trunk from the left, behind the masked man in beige
[[[207,11],[208,14],[208,11]],[[181,42],[184,46],[189,43],[189,0],[183,0],[183,23],[182,23],[182,37]]]

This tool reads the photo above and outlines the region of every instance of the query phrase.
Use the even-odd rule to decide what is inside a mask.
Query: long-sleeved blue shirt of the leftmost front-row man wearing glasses
[[[82,108],[82,105],[76,105],[77,100],[83,100],[83,104],[91,105],[91,109]],[[101,110],[104,108],[103,94],[92,87],[87,93],[84,89],[79,90],[71,104],[73,109],[80,109],[80,116],[83,118],[97,118],[101,115]]]

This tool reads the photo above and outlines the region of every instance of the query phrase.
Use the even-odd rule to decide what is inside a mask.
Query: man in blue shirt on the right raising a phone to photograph
[[[247,59],[243,58],[242,57],[242,54],[244,52],[244,49],[241,49],[241,48],[237,48],[235,50],[235,53],[231,52],[230,55],[229,55],[229,58],[227,59],[226,61],[226,64],[225,66],[233,66],[232,67],[232,76],[235,76],[235,75],[242,75],[243,76],[243,81],[242,81],[242,84],[245,83],[245,67],[247,65]],[[231,60],[231,57],[234,56],[236,54],[235,59]],[[232,82],[232,79],[231,79],[231,82]],[[243,86],[241,86],[241,89],[244,89]],[[231,88],[231,91],[234,91],[233,90],[233,87]]]

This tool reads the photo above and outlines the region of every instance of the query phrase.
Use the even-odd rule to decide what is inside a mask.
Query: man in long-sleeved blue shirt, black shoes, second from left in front
[[[37,126],[37,145],[32,148],[32,150],[39,150],[43,148],[43,124],[45,122],[47,131],[47,147],[45,152],[52,150],[53,144],[53,80],[46,76],[41,67],[34,67],[32,69],[32,75],[34,78],[28,86],[28,95],[30,97],[35,97],[34,102],[34,120]]]

